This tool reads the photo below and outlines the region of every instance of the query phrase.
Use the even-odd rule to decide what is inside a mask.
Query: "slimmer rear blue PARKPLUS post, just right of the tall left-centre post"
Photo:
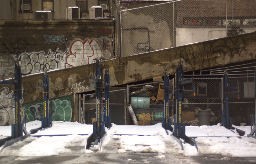
[[[109,93],[110,86],[109,86],[109,73],[108,70],[105,70],[104,76],[104,95],[105,95],[105,126],[109,128],[111,126],[111,118],[109,116]]]

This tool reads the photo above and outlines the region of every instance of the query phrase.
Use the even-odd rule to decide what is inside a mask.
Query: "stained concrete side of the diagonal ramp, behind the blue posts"
[[[110,85],[116,86],[163,76],[163,66],[167,67],[169,74],[174,74],[179,60],[183,60],[186,71],[191,71],[252,60],[255,59],[255,52],[256,32],[253,32],[133,55],[123,58],[122,61],[109,60],[106,64],[109,67]],[[49,72],[50,97],[94,90],[95,82],[90,79],[95,72],[94,67],[95,64],[88,64]],[[37,86],[37,83],[42,83],[42,74],[25,76],[22,82],[24,103],[43,99],[42,89]],[[1,98],[5,95],[1,94]]]

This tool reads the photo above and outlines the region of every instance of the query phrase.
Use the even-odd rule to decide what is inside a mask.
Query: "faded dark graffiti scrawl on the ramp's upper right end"
[[[241,43],[241,44],[237,44]],[[203,46],[202,46],[203,45]],[[246,53],[244,37],[223,38],[212,42],[203,42],[202,44],[194,44],[190,46],[180,46],[176,51],[175,56],[171,56],[172,62],[177,61],[176,56],[184,61],[187,65],[186,70],[201,68],[209,68],[217,65],[224,65],[237,61],[241,54]],[[203,49],[203,50],[202,50]],[[205,52],[205,53],[202,53]],[[247,58],[254,58],[255,54],[248,54]]]

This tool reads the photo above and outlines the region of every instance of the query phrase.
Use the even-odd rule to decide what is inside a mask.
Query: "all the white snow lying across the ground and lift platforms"
[[[40,121],[33,121],[26,124],[27,130],[35,129],[41,126]],[[150,126],[135,125],[115,125],[107,131],[102,145],[108,144],[112,138],[118,138],[120,145],[118,152],[155,152],[155,153],[183,153],[185,156],[221,154],[228,157],[256,157],[256,139],[246,137],[250,133],[250,126],[238,127],[245,131],[244,137],[236,137],[237,133],[233,133],[228,129],[218,125],[213,126],[186,126],[186,135],[189,137],[197,137],[196,143],[199,152],[197,153],[195,146],[183,143],[184,150],[171,134],[167,134],[162,128],[161,123]],[[77,122],[55,121],[51,128],[39,131],[33,135],[63,135],[67,136],[30,136],[24,141],[15,144],[27,145],[20,150],[11,150],[6,147],[0,154],[15,155],[20,157],[28,156],[48,156],[60,153],[72,152],[68,147],[85,146],[85,140],[91,134],[92,125],[80,124]],[[124,135],[126,134],[126,135]],[[0,137],[11,135],[11,126],[0,126]],[[0,138],[1,139],[1,138]],[[169,144],[169,145],[168,145]],[[171,145],[171,146],[170,146]],[[40,147],[40,148],[39,148]],[[1,148],[0,148],[1,149]],[[90,150],[83,150],[81,153],[92,153]]]

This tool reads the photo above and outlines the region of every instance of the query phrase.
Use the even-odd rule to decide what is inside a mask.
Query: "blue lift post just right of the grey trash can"
[[[228,109],[228,90],[229,89],[237,89],[237,86],[229,86],[228,84],[228,72],[227,70],[224,70],[223,75],[223,89],[222,89],[222,95],[223,95],[223,101],[224,101],[224,112],[222,112],[222,125],[227,129],[232,129],[232,118],[229,118],[229,109]],[[239,96],[238,99],[240,100]]]

